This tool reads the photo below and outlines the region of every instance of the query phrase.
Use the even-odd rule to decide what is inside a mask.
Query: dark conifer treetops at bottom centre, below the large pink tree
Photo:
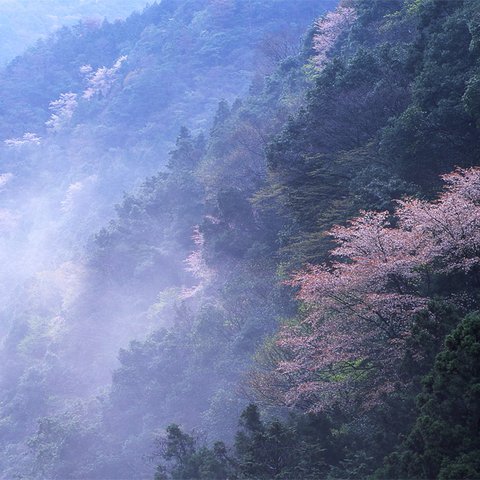
[[[160,443],[165,463],[160,464],[156,480],[313,480],[323,478],[338,457],[327,417],[292,415],[284,422],[264,422],[253,404],[240,416],[233,452],[221,442],[212,448],[199,445],[177,425],[167,428],[167,438]]]

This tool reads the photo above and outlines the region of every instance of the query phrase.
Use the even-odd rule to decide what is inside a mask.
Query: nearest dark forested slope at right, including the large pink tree
[[[276,259],[272,284],[320,263],[289,282],[300,289],[296,318],[277,312],[280,333],[247,380],[266,412],[294,416],[245,410],[231,451],[172,426],[158,478],[479,475],[474,316],[445,340],[478,308],[478,170],[445,176],[447,190],[428,202],[440,174],[478,165],[479,15],[474,1],[359,1],[317,24],[315,86],[267,145],[263,185],[252,195],[237,182],[234,202],[250,198],[244,218],[256,230],[234,251],[249,258],[260,243]],[[397,206],[405,195],[422,200]],[[217,236],[221,223],[206,218],[200,230],[207,266],[249,237],[238,220]]]

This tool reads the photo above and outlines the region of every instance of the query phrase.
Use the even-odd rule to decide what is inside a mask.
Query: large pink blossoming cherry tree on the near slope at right
[[[315,411],[356,393],[368,406],[404,385],[398,365],[427,311],[428,278],[480,264],[480,169],[443,180],[436,201],[406,199],[394,215],[362,212],[333,228],[331,262],[293,277],[307,313],[278,338],[283,402]]]

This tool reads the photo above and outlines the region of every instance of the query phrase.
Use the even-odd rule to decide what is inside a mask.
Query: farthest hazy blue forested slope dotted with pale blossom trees
[[[1,225],[10,244],[18,251],[36,224],[19,195],[35,198],[42,218],[30,233],[42,245],[33,262],[41,266],[46,244],[61,253],[84,243],[124,190],[166,164],[181,126],[208,129],[217,103],[285,55],[274,48],[285,39],[295,50],[328,4],[168,0],[125,22],[59,30],[15,59],[0,78]]]

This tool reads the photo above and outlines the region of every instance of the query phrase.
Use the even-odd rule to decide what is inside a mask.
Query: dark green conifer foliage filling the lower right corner
[[[447,336],[418,396],[418,417],[380,478],[477,478],[480,475],[480,315]]]

